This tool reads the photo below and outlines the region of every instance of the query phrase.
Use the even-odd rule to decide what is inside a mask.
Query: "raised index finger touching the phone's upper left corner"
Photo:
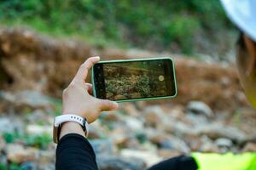
[[[88,75],[88,71],[90,68],[96,64],[100,60],[99,56],[90,57],[84,61],[82,65],[79,67],[79,71],[77,72],[76,76],[73,78],[75,82],[84,82]]]

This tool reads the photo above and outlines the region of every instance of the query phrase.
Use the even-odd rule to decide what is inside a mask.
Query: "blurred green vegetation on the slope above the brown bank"
[[[98,45],[172,48],[191,54],[194,38],[228,30],[218,0],[2,0],[0,23]]]

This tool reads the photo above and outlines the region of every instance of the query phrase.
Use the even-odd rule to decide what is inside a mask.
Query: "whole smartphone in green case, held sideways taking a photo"
[[[166,99],[177,95],[171,58],[99,61],[91,69],[93,95],[117,102]]]

